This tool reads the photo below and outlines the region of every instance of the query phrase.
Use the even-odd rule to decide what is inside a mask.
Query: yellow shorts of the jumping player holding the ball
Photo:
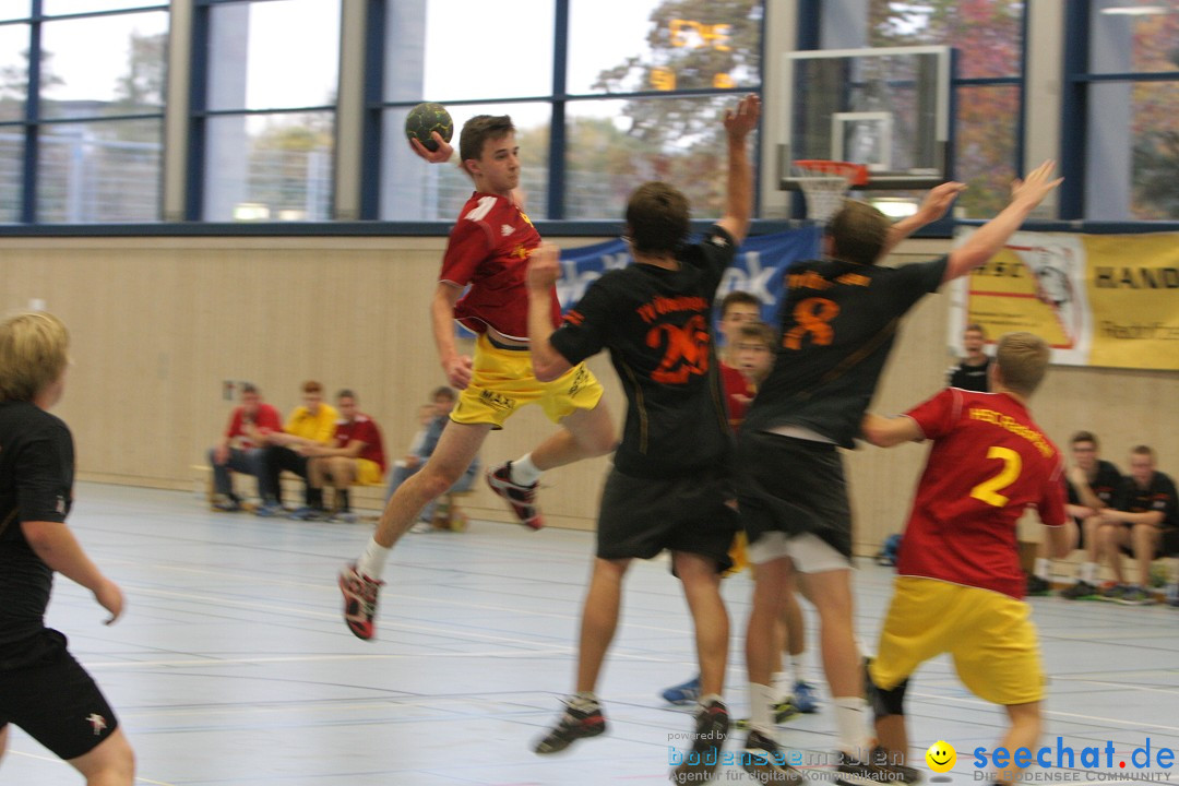
[[[540,404],[554,423],[579,409],[593,409],[601,398],[601,383],[585,363],[578,363],[552,382],[532,372],[527,349],[500,349],[486,335],[475,342],[470,384],[459,394],[450,412],[455,423],[490,423],[495,429],[525,404]]]

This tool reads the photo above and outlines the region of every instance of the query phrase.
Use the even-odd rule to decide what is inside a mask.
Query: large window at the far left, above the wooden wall
[[[158,220],[166,7],[45,0],[31,16],[28,2],[6,6],[0,220]]]

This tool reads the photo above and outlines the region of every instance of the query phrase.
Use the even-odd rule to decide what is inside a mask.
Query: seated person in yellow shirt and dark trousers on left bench
[[[266,449],[262,454],[262,471],[258,475],[258,494],[262,506],[255,510],[259,516],[277,516],[283,513],[283,487],[278,481],[285,469],[307,480],[307,450],[314,447],[331,444],[336,432],[338,412],[334,407],[323,403],[323,385],[318,382],[303,383],[303,404],[296,407],[286,420],[282,431],[262,431],[259,435]],[[322,489],[307,487],[305,502],[323,507]]]

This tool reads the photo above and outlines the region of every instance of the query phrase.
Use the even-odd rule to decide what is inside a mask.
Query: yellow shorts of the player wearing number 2
[[[950,653],[980,699],[1022,705],[1043,698],[1032,607],[1007,595],[935,579],[897,576],[880,649],[869,671],[888,691],[922,662]]]

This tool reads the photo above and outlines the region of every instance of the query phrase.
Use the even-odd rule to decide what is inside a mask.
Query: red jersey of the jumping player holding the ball
[[[454,318],[474,332],[490,325],[508,338],[528,341],[528,256],[540,233],[511,200],[490,193],[470,194],[450,230],[439,278],[470,289],[454,306]],[[553,288],[553,328],[561,305]]]

